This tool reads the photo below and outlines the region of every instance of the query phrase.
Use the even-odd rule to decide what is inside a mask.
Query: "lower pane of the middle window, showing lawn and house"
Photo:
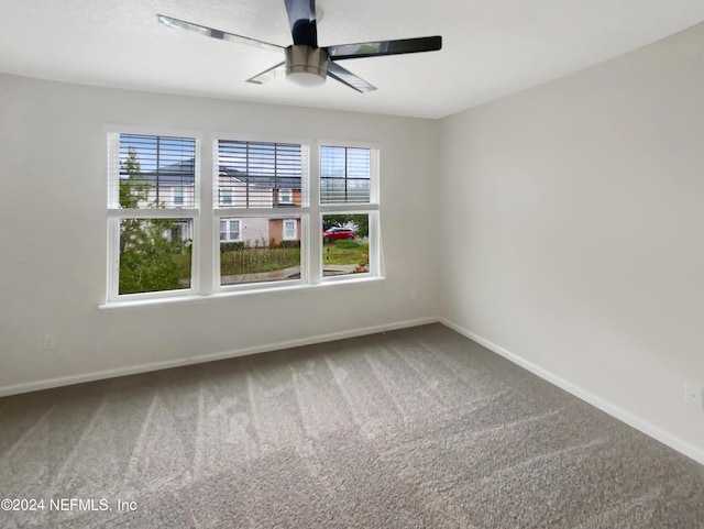
[[[220,285],[300,278],[299,217],[223,220],[239,239],[220,242]]]

